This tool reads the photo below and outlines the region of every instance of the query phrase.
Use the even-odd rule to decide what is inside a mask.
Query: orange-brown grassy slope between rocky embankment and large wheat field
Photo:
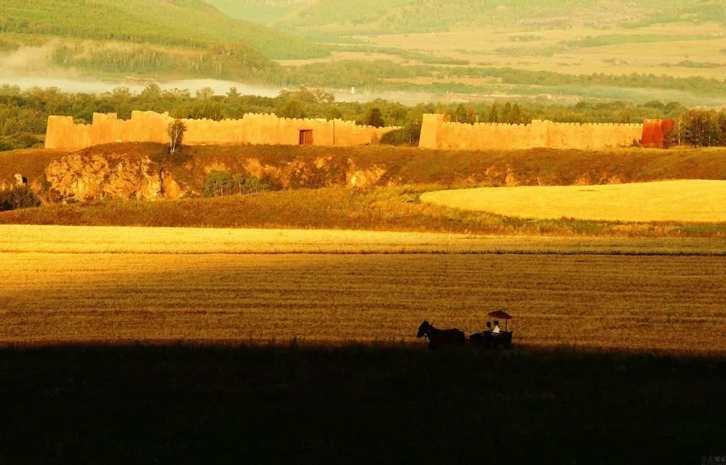
[[[441,186],[297,189],[169,202],[106,201],[49,205],[0,213],[0,223],[354,229],[558,236],[726,236],[726,223],[531,220],[420,202],[422,192],[436,188],[440,189]]]

